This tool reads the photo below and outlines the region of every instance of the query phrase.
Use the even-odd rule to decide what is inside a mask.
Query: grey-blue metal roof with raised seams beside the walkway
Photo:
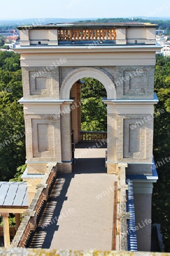
[[[0,181],[0,208],[28,207],[27,182]]]

